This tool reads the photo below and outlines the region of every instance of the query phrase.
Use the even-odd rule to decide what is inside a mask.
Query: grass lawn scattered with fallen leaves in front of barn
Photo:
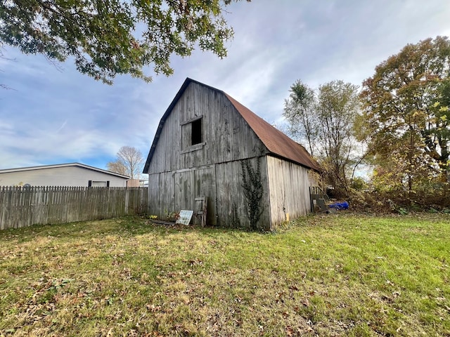
[[[0,232],[0,336],[450,336],[450,215]]]

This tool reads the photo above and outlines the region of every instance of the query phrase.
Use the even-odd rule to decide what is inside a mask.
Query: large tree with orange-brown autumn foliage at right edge
[[[411,192],[438,171],[447,180],[450,150],[450,41],[406,45],[364,81],[359,139],[380,173]],[[387,159],[387,160],[386,160]],[[382,174],[382,176],[383,176]],[[387,181],[385,182],[387,183]]]

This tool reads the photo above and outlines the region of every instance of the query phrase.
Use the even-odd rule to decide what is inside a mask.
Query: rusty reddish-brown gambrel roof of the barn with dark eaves
[[[309,169],[314,169],[319,171],[319,166],[316,164],[314,159],[311,158],[311,155],[307,152],[307,150],[300,144],[296,143],[294,140],[290,139],[284,133],[279,131],[274,126],[271,126],[268,122],[264,121],[261,117],[258,117],[257,114],[252,112],[250,109],[240,104],[237,100],[232,98],[230,95],[221,91],[217,88],[213,88],[212,86],[207,86],[206,84],[200,83],[193,79],[187,78],[184,81],[184,84],[179,89],[178,93],[176,93],[175,98],[170,103],[169,107],[165,111],[164,115],[161,118],[160,124],[158,125],[158,129],[156,131],[155,138],[153,139],[152,146],[150,147],[150,152],[148,153],[146,165],[144,166],[143,172],[146,173],[148,171],[148,167],[150,166],[150,161],[153,157],[153,153],[155,152],[156,145],[158,144],[158,140],[160,138],[160,134],[162,131],[162,127],[165,124],[167,117],[176,102],[181,98],[184,91],[188,87],[189,84],[195,83],[200,84],[201,86],[205,86],[207,88],[212,89],[213,91],[217,91],[222,93],[229,99],[230,103],[238,110],[239,114],[245,119],[248,126],[252,128],[252,130],[256,133],[259,140],[266,146],[267,150],[276,157],[281,157],[283,159],[288,159],[289,161],[293,161],[302,166],[306,166]]]

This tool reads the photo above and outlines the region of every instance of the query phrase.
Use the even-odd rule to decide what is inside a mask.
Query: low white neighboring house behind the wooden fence
[[[0,186],[126,187],[127,180],[129,176],[79,163],[0,170]]]

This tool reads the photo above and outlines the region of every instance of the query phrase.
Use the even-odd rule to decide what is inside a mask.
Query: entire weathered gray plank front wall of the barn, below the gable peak
[[[190,121],[198,117],[203,140],[190,146]],[[194,209],[195,197],[207,197],[207,225],[231,227],[239,220],[240,226],[248,226],[240,160],[253,162],[264,154],[264,145],[223,93],[190,84],[167,117],[150,161],[150,213],[164,218],[180,209]],[[267,183],[265,159],[260,160]],[[261,221],[268,229],[267,197],[265,193]]]

